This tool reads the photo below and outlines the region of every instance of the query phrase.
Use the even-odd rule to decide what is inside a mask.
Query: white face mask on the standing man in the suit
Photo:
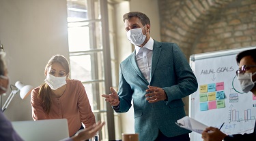
[[[146,35],[143,35],[142,33],[143,28],[134,28],[130,31],[127,31],[126,35],[130,43],[132,43],[133,45],[141,45],[144,43]]]

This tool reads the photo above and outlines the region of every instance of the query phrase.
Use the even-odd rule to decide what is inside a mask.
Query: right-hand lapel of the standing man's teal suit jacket
[[[154,75],[154,71],[156,70],[156,64],[159,60],[160,54],[161,54],[161,44],[158,41],[154,40],[152,66],[151,66],[151,76],[150,76],[151,79]]]

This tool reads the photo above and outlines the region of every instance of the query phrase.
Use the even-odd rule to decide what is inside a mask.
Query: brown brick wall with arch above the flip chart
[[[191,54],[256,45],[255,0],[160,0],[162,41]]]

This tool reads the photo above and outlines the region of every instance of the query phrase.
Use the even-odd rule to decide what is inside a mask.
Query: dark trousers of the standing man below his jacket
[[[167,137],[159,130],[158,136],[155,141],[190,141],[190,138],[188,134],[183,134],[175,137]]]

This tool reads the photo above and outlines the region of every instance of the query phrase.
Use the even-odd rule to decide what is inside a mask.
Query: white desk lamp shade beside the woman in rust
[[[15,86],[18,89],[20,89],[20,98],[21,99],[27,98],[27,96],[29,96],[29,94],[31,93],[31,91],[33,89],[33,86],[31,86],[31,85],[24,85],[20,81],[16,81]]]

